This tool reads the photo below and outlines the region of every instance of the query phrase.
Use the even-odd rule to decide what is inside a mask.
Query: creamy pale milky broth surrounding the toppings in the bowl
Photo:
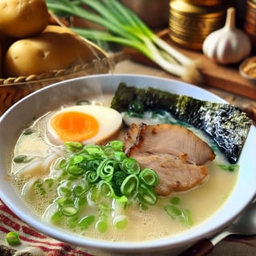
[[[111,97],[105,97],[103,105],[109,105]],[[102,99],[101,99],[102,100]],[[98,101],[93,101],[93,104],[98,104]],[[14,147],[14,156],[16,155],[35,155],[42,158],[47,155],[61,155],[63,148],[55,147],[46,139],[46,122],[51,117],[52,112],[45,114],[43,117],[38,118],[33,124],[31,129],[34,130],[32,134],[21,134],[19,140]],[[119,134],[118,138],[122,138],[123,131]],[[200,137],[204,135],[199,134]],[[205,138],[206,139],[206,138]],[[56,153],[57,152],[57,153]],[[55,154],[56,153],[56,154]],[[35,158],[36,159],[36,158]],[[53,163],[57,157],[52,157],[50,163],[47,163],[45,169],[42,165],[31,168],[26,171],[27,165],[31,165],[34,159],[29,163],[12,163],[10,170],[11,182],[14,189],[26,200],[31,209],[39,216],[43,217],[45,210],[56,195],[52,193],[47,198],[40,196],[24,196],[24,185],[31,179],[36,177],[44,178],[48,175],[49,169],[53,167]],[[125,210],[126,216],[129,218],[129,225],[124,230],[117,230],[112,225],[105,233],[99,233],[93,225],[85,231],[81,229],[72,229],[76,233],[81,233],[86,237],[100,238],[110,241],[122,242],[139,242],[155,238],[175,235],[192,229],[193,226],[199,225],[207,220],[225,204],[225,200],[229,197],[230,193],[237,181],[238,171],[224,171],[217,164],[229,164],[225,161],[223,155],[217,153],[216,159],[213,163],[209,164],[208,179],[200,184],[199,187],[192,189],[188,192],[174,193],[169,198],[160,198],[158,204],[149,207],[146,211],[138,208],[138,205],[130,206]],[[21,171],[22,170],[22,171]],[[170,198],[173,196],[180,197],[181,209],[189,209],[192,215],[192,227],[184,226],[179,220],[174,220],[165,213],[163,207],[170,204]],[[60,223],[65,229],[65,223]],[[136,230],[136,231],[135,231]]]

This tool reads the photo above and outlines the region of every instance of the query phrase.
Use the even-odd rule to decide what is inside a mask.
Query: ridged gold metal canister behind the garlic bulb
[[[212,4],[209,5],[209,2]],[[226,10],[229,6],[230,4],[223,0],[171,0],[171,39],[183,47],[200,51],[207,35],[225,25]]]

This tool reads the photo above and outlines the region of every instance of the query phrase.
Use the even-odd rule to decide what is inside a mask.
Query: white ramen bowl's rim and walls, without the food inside
[[[179,250],[179,248],[188,246],[200,238],[209,237],[217,233],[220,229],[225,228],[226,225],[229,225],[250,204],[256,192],[256,158],[254,157],[256,152],[256,130],[254,126],[250,128],[238,161],[240,168],[237,174],[237,180],[229,196],[221,204],[219,209],[214,211],[213,214],[204,221],[201,221],[198,225],[193,225],[183,232],[149,241],[105,241],[86,237],[86,235],[78,235],[72,231],[49,224],[31,209],[19,193],[15,191],[8,179],[6,179],[7,173],[10,172],[10,155],[12,155],[14,144],[24,128],[36,118],[52,111],[52,109],[60,108],[61,105],[65,105],[68,102],[85,100],[88,95],[93,95],[93,97],[97,97],[100,101],[105,101],[105,95],[111,93],[114,95],[120,82],[138,88],[151,86],[156,89],[188,95],[204,101],[225,103],[220,97],[194,85],[153,76],[122,74],[85,76],[62,81],[39,89],[13,105],[1,117],[0,196],[2,201],[18,217],[39,232],[62,242],[84,247],[89,251],[100,251],[100,254],[104,252],[111,254],[135,254],[149,253],[152,251]],[[226,182],[223,181],[223,184],[220,185],[225,186]],[[154,230],[155,227],[152,226],[151,229]],[[137,230],[134,230],[134,233],[136,232]]]

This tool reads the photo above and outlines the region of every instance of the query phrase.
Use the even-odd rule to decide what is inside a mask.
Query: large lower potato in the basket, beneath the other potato
[[[91,48],[65,27],[47,26],[39,35],[15,41],[6,52],[5,75],[9,77],[39,75],[89,63]]]

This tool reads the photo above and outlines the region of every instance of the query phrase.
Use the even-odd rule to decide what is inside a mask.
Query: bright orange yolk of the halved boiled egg
[[[52,129],[64,142],[81,142],[92,138],[99,130],[96,118],[81,112],[57,114],[51,121]]]

